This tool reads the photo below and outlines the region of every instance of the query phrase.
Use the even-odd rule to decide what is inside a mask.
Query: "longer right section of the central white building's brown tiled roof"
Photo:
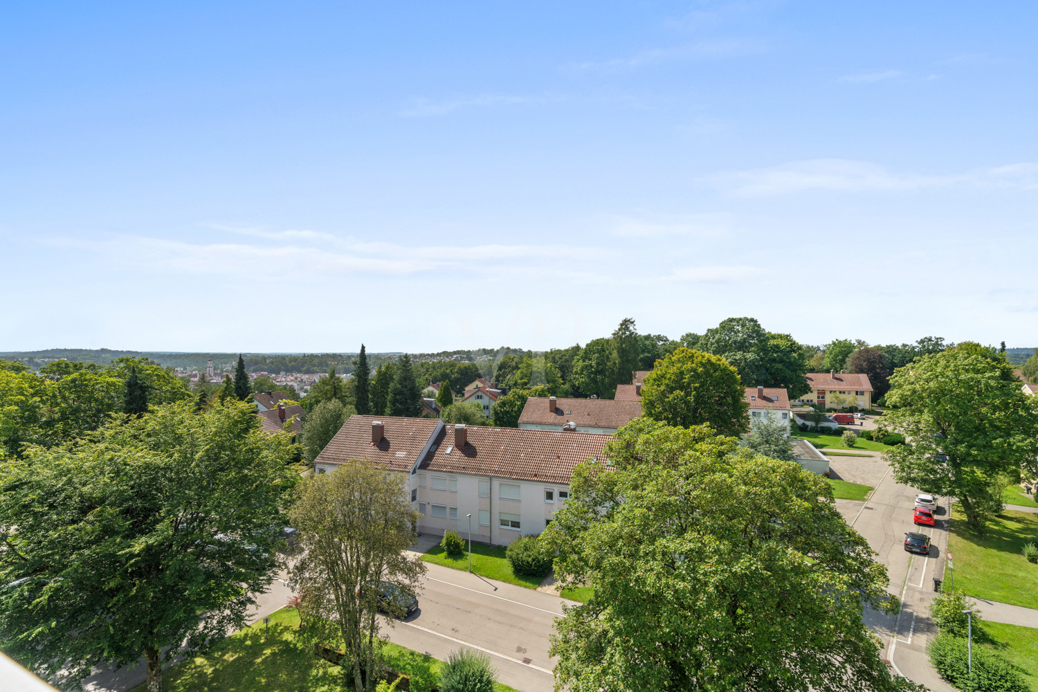
[[[436,450],[422,460],[422,469],[554,483],[570,482],[577,464],[602,460],[611,439],[594,433],[469,425],[465,446],[459,449],[454,446],[454,425],[447,428],[439,434]]]

